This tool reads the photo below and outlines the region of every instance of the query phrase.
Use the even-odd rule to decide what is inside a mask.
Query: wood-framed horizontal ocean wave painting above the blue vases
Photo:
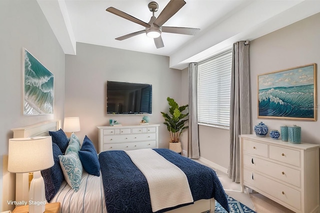
[[[316,121],[316,64],[257,76],[258,118]]]

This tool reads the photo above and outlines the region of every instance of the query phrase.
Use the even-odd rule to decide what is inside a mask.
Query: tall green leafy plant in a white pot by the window
[[[170,134],[170,142],[169,149],[174,152],[181,153],[181,142],[179,141],[179,137],[183,130],[187,129],[185,122],[188,120],[186,116],[189,113],[183,114],[182,112],[188,107],[188,105],[179,106],[173,98],[167,97],[166,100],[170,106],[169,114],[161,112],[165,122],[163,124],[166,125],[169,134]]]

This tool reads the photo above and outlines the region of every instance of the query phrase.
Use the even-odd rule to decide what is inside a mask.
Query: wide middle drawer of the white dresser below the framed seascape
[[[301,188],[301,172],[249,155],[243,155],[243,166]]]

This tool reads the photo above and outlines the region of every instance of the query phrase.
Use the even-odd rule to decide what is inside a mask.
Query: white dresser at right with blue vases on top
[[[295,213],[319,213],[319,145],[240,135],[240,184]]]

